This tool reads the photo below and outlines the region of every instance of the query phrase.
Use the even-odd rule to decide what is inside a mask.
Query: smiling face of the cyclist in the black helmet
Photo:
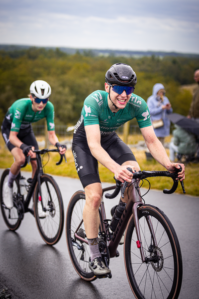
[[[119,95],[116,92],[112,91],[112,87],[109,86],[107,83],[105,83],[105,91],[109,93],[110,99],[112,103],[118,108],[118,109],[124,109],[126,107],[126,104],[130,100],[131,94],[127,95],[125,90]],[[108,107],[112,112],[117,112],[118,109],[116,109],[108,97]]]

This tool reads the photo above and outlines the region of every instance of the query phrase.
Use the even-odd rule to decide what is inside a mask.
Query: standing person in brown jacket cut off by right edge
[[[194,80],[199,85],[199,69],[194,73]],[[193,100],[190,107],[188,118],[193,119],[197,123],[199,123],[199,86],[194,90]],[[196,162],[199,162],[199,147],[196,154]]]

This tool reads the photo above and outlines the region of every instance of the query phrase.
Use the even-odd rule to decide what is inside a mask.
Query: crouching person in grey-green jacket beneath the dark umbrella
[[[194,159],[197,151],[196,137],[184,130],[183,128],[175,125],[176,129],[173,131],[173,138],[169,145],[170,160],[172,163],[175,161],[175,153],[189,155],[188,159]]]

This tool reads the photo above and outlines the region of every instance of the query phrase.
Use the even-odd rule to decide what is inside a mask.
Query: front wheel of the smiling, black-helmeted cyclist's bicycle
[[[157,247],[151,253],[149,244],[154,244],[151,242],[147,217],[151,219],[157,240]],[[160,209],[151,205],[138,208],[138,219],[145,257],[157,258],[159,255],[160,261],[142,263],[136,244],[134,219],[131,216],[124,240],[124,262],[131,290],[136,299],[177,299],[182,285],[183,265],[174,227]]]

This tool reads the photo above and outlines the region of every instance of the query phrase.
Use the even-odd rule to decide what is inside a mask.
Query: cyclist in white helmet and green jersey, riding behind
[[[66,151],[66,145],[61,145],[55,135],[54,106],[49,102],[51,95],[50,85],[43,81],[34,81],[30,86],[29,98],[15,101],[4,117],[1,133],[7,148],[14,157],[10,167],[8,181],[5,189],[5,205],[13,207],[12,186],[13,181],[20,171],[20,166],[25,162],[25,156],[35,157],[32,149],[38,149],[31,123],[46,118],[49,142],[56,146],[61,154]],[[32,177],[37,169],[36,160],[31,160]]]

